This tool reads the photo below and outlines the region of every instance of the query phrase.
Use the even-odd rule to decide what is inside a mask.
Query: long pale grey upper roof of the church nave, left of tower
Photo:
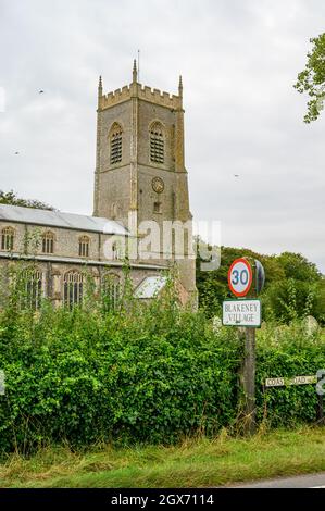
[[[61,213],[60,211],[22,208],[21,205],[0,204],[0,221],[1,220],[5,222],[20,222],[23,224],[64,227],[122,236],[129,234],[122,224],[114,220],[74,213]]]

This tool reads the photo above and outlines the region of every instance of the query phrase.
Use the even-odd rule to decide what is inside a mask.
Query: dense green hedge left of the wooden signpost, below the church
[[[235,333],[201,314],[45,308],[0,327],[0,449],[67,440],[173,443],[235,420]]]

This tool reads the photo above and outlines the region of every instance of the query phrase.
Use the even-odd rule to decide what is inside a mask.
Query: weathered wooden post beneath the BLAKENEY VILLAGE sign
[[[245,433],[255,432],[255,328],[245,328],[245,358],[242,371],[245,392]]]

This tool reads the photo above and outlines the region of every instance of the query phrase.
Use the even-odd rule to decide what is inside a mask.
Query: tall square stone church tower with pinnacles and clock
[[[133,233],[154,220],[161,241],[165,221],[187,223],[185,256],[178,257],[173,238],[172,257],[161,249],[157,260],[175,262],[183,287],[196,299],[182,77],[178,96],[171,96],[142,86],[137,75],[135,61],[132,84],[107,95],[99,80],[93,215],[122,222]]]

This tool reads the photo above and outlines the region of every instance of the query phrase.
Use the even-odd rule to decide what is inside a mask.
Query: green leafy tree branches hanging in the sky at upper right
[[[299,92],[307,92],[311,98],[307,103],[308,111],[303,117],[305,123],[315,121],[323,110],[325,98],[325,34],[310,39],[313,47],[307,54],[305,68],[298,74],[293,86]]]

